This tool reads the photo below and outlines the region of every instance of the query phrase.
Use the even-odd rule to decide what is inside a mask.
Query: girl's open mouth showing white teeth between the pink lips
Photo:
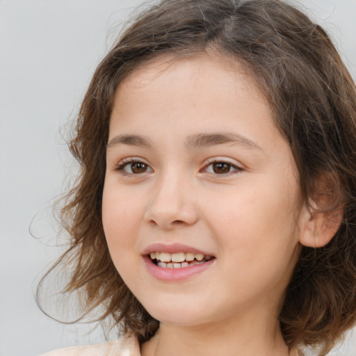
[[[152,263],[161,268],[187,268],[204,264],[213,259],[213,256],[193,252],[150,252],[148,257]]]

